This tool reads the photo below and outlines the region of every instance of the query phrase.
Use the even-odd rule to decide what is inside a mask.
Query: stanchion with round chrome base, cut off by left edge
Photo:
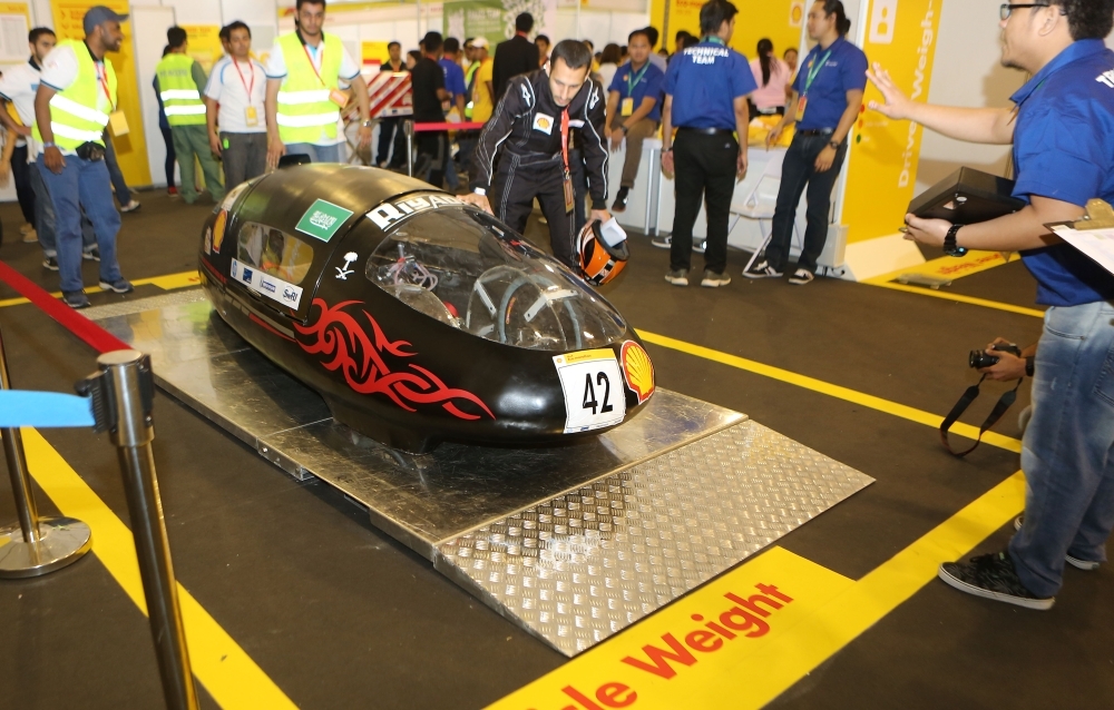
[[[11,389],[2,333],[0,389]],[[23,437],[17,427],[0,427],[0,436],[19,516],[18,525],[0,527],[0,578],[38,576],[72,564],[92,546],[89,526],[72,517],[39,517]]]

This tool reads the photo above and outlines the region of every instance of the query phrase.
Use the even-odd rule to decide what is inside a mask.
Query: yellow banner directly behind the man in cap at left
[[[128,0],[55,0],[51,9],[55,16],[55,32],[59,40],[85,39],[81,20],[89,8],[102,4],[120,14],[128,12]],[[116,71],[119,108],[127,116],[131,130],[113,138],[120,171],[129,185],[150,185],[150,168],[147,166],[147,144],[144,140],[143,109],[139,106],[139,90],[136,85],[135,46],[131,42],[131,22],[125,22],[124,41],[120,51],[109,52],[108,60]]]

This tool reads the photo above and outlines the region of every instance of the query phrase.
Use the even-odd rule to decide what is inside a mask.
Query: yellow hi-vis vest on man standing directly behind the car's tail
[[[321,57],[321,76],[310,63],[307,49],[302,46],[296,32],[278,38],[286,78],[278,89],[278,105],[275,120],[278,138],[284,144],[321,140],[322,131],[330,139],[336,138],[336,121],[341,118],[340,107],[329,100],[329,92],[340,85],[341,56],[344,45],[335,34],[322,33],[317,51]]]

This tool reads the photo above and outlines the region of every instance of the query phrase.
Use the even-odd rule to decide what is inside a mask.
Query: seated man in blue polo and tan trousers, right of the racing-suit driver
[[[623,178],[615,194],[613,213],[626,209],[627,193],[634,187],[642,162],[642,141],[657,132],[662,120],[662,96],[665,72],[649,61],[649,36],[646,30],[635,30],[627,36],[631,61],[619,67],[607,89],[607,136],[612,151],[619,149],[626,138],[627,151],[623,162]]]

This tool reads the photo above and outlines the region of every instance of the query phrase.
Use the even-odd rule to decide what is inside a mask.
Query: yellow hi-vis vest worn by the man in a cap
[[[65,91],[59,91],[50,99],[50,130],[55,134],[55,145],[61,150],[75,151],[86,142],[105,145],[105,126],[108,126],[108,114],[101,111],[100,97],[105,93],[105,85],[97,75],[97,65],[92,61],[89,48],[80,40],[66,40],[59,47],[69,47],[77,57],[77,78]],[[105,61],[105,83],[108,85],[109,110],[116,108],[116,72],[113,62]],[[31,129],[35,139],[42,142],[42,134],[38,124]]]

